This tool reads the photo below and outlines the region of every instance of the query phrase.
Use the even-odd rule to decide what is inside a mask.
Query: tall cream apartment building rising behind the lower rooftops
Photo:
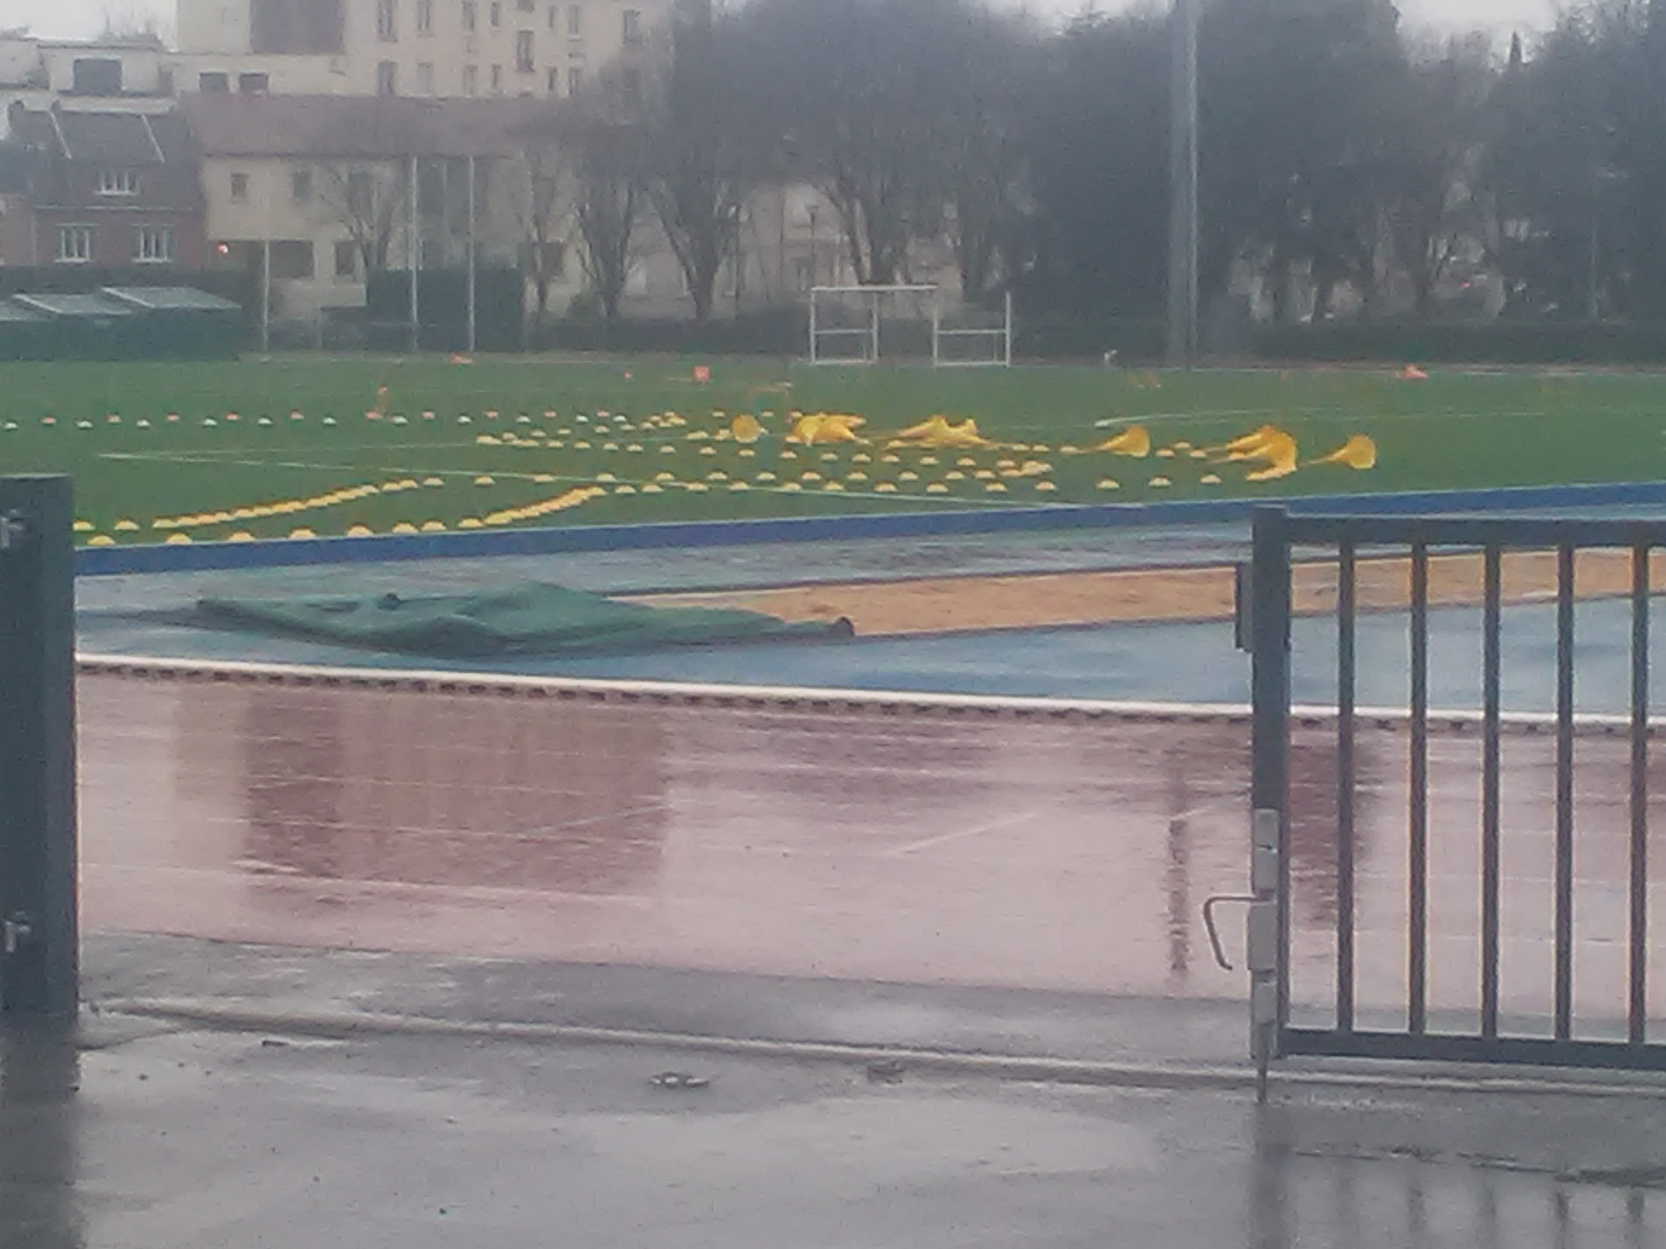
[[[561,98],[676,0],[178,0],[180,92]]]

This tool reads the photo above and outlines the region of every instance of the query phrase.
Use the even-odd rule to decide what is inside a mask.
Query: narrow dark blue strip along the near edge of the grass
[[[1148,525],[1248,523],[1256,506],[1279,503],[1291,515],[1406,516],[1418,513],[1544,511],[1549,508],[1666,506],[1666,481],[1501,490],[1419,490],[1401,495],[1306,495],[1294,498],[1176,500],[985,511],[895,511],[860,516],[681,521],[663,525],[571,525],[475,533],[400,533],[370,538],[283,538],[253,543],[90,546],[75,553],[78,576],[293,568],[402,560],[468,560],[500,555],[576,555],[661,546],[940,538],[1048,530],[1121,530]]]

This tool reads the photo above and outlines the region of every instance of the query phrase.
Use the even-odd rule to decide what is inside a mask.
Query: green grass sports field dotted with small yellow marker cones
[[[793,443],[793,411],[860,415],[866,441]],[[763,426],[750,445],[730,433],[740,413]],[[973,418],[991,445],[888,445],[935,413]],[[1091,450],[1135,425],[1148,455]],[[1271,460],[1213,448],[1264,425],[1294,440],[1299,466],[1253,481]],[[1374,466],[1323,461],[1356,435]],[[28,471],[75,476],[78,538],[95,545],[1653,481],[1666,480],[1666,378],[0,365],[0,473]]]

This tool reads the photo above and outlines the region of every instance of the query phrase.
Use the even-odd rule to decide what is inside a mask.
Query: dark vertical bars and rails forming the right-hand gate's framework
[[[1476,1062],[1539,1062],[1616,1069],[1666,1071],[1666,1044],[1649,1042],[1649,644],[1654,548],[1666,546],[1663,521],[1561,521],[1544,518],[1468,516],[1284,516],[1258,518],[1258,561],[1281,576],[1258,578],[1254,603],[1264,606],[1283,626],[1276,643],[1271,629],[1256,629],[1256,804],[1276,804],[1281,828],[1279,866],[1279,953],[1278,953],[1278,1056],[1353,1056]],[[1276,541],[1276,560],[1264,558]],[[1336,1019],[1326,1026],[1291,1024],[1291,873],[1289,873],[1289,553],[1298,546],[1328,546],[1336,551]],[[1406,1026],[1378,1031],[1358,1019],[1358,846],[1356,786],[1358,744],[1358,611],[1359,560],[1409,551],[1409,793],[1408,793],[1408,949]],[[1609,716],[1608,731],[1628,734],[1628,816],[1629,816],[1629,914],[1628,914],[1628,1033],[1624,1039],[1576,1039],[1574,1028],[1574,936],[1576,936],[1576,811],[1574,741],[1584,719],[1574,703],[1574,641],[1578,626],[1578,560],[1583,550],[1631,553],[1631,689],[1629,714]],[[1429,1019],[1429,595],[1431,551],[1471,551],[1481,558],[1481,929],[1478,1031],[1448,1031]],[[1556,659],[1554,709],[1531,718],[1539,731],[1554,734],[1553,803],[1553,901],[1554,901],[1554,1021],[1544,1038],[1513,1036],[1501,1031],[1501,893],[1503,893],[1503,575],[1504,556],[1513,551],[1554,553],[1556,566]],[[1283,563],[1278,563],[1278,561]],[[1276,585],[1274,585],[1276,581]],[[1594,590],[1594,586],[1591,586]],[[1274,601],[1276,598],[1276,601]],[[1274,683],[1276,678],[1276,683]],[[1261,768],[1274,748],[1276,774]],[[1278,789],[1273,789],[1276,776]],[[1268,813],[1269,814],[1269,813]],[[1256,844],[1269,843],[1258,836]],[[1259,873],[1271,879],[1271,871]],[[1268,916],[1271,918],[1271,916]],[[1271,966],[1271,959],[1268,959]]]

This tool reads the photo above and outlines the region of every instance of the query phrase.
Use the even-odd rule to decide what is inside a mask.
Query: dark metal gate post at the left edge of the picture
[[[0,1014],[73,1018],[75,550],[65,476],[0,478]]]

